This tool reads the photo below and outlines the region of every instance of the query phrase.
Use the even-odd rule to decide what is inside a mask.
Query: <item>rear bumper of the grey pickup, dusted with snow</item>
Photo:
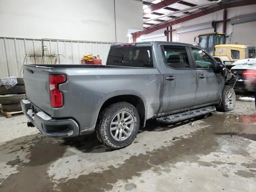
[[[28,100],[27,100],[28,101]],[[78,136],[79,127],[73,119],[52,119],[47,114],[33,114],[30,116],[27,112],[31,109],[31,103],[26,104],[20,101],[22,112],[30,122],[38,128],[42,134],[49,137],[75,137]],[[39,116],[38,116],[39,115]]]

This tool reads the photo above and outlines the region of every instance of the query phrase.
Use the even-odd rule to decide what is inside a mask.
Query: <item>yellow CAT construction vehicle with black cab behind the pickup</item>
[[[227,68],[231,68],[232,63],[240,59],[255,58],[255,46],[226,44],[226,33],[200,34],[198,38],[198,46],[214,56],[218,62],[224,62]]]

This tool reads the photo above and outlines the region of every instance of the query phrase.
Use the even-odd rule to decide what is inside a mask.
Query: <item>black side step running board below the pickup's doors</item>
[[[191,118],[205,115],[205,114],[215,112],[215,111],[216,111],[215,106],[208,106],[208,107],[204,107],[204,108],[194,109],[191,111],[181,112],[178,114],[162,116],[160,118],[157,118],[156,120],[161,123],[172,124],[175,122],[191,119]]]

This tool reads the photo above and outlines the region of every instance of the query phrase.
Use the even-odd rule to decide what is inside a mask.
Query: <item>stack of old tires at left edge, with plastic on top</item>
[[[26,98],[22,77],[17,77],[17,84],[9,89],[0,84],[0,104],[4,112],[21,111],[20,100]]]

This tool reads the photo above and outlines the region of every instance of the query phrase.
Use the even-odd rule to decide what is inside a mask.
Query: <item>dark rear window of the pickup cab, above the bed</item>
[[[107,65],[153,68],[152,49],[150,46],[111,48]]]

